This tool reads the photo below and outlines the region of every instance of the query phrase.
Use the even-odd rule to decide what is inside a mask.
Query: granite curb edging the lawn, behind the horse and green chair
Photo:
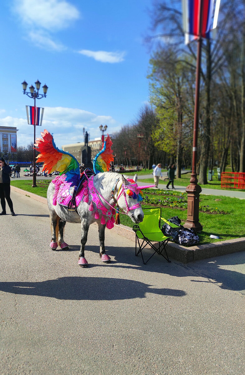
[[[26,190],[19,189],[18,187],[11,186],[11,189],[17,193],[25,196],[30,196],[31,199],[48,204],[47,198],[40,195],[30,193]],[[126,225],[114,225],[114,228],[110,229],[111,233],[119,234],[122,237],[135,242],[135,233],[129,226]],[[157,243],[156,243],[157,244]],[[146,248],[150,248],[149,245]],[[168,243],[166,249],[170,258],[173,258],[181,263],[189,263],[195,260],[202,260],[220,255],[231,254],[245,250],[245,237],[235,238],[232,240],[218,241],[214,243],[207,243],[205,245],[191,246],[186,248],[176,243]]]

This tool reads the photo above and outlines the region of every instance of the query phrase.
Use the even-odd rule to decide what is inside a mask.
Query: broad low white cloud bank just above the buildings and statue
[[[36,126],[36,138],[47,129],[53,133],[56,146],[61,148],[65,144],[83,142],[83,127],[90,133],[90,139],[101,136],[100,124],[107,124],[107,132],[110,134],[120,130],[122,126],[108,115],[97,115],[78,108],[45,107],[42,126]],[[26,146],[34,140],[33,126],[27,124],[26,118],[0,118],[0,126],[16,126],[19,129],[18,146]]]

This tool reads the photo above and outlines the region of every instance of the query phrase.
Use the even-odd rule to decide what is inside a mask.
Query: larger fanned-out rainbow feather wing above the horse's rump
[[[43,138],[36,138],[36,149],[40,152],[37,156],[37,162],[43,163],[43,171],[46,169],[48,173],[59,171],[61,174],[66,174],[66,181],[73,181],[76,184],[80,178],[79,163],[74,156],[59,150],[52,135],[48,130],[41,132]]]

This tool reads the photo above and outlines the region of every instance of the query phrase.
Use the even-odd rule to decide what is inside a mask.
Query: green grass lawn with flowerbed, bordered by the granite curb
[[[11,185],[46,197],[50,181],[37,180],[37,187],[32,187],[32,180],[12,180]],[[162,207],[162,216],[165,219],[178,216],[181,224],[184,224],[187,217],[187,194],[147,189],[144,190],[142,207]],[[243,199],[201,195],[199,207],[199,221],[203,226],[203,231],[199,233],[200,244],[220,241],[211,239],[210,234],[220,236],[223,240],[245,237],[245,201]],[[124,214],[120,214],[120,221],[131,228],[134,225],[132,220]]]

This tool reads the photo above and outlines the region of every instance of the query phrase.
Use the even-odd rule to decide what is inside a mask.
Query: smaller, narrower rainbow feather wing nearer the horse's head
[[[97,174],[99,172],[108,172],[110,169],[110,162],[114,161],[114,156],[111,150],[112,142],[109,135],[103,143],[102,150],[94,158],[94,172]]]

